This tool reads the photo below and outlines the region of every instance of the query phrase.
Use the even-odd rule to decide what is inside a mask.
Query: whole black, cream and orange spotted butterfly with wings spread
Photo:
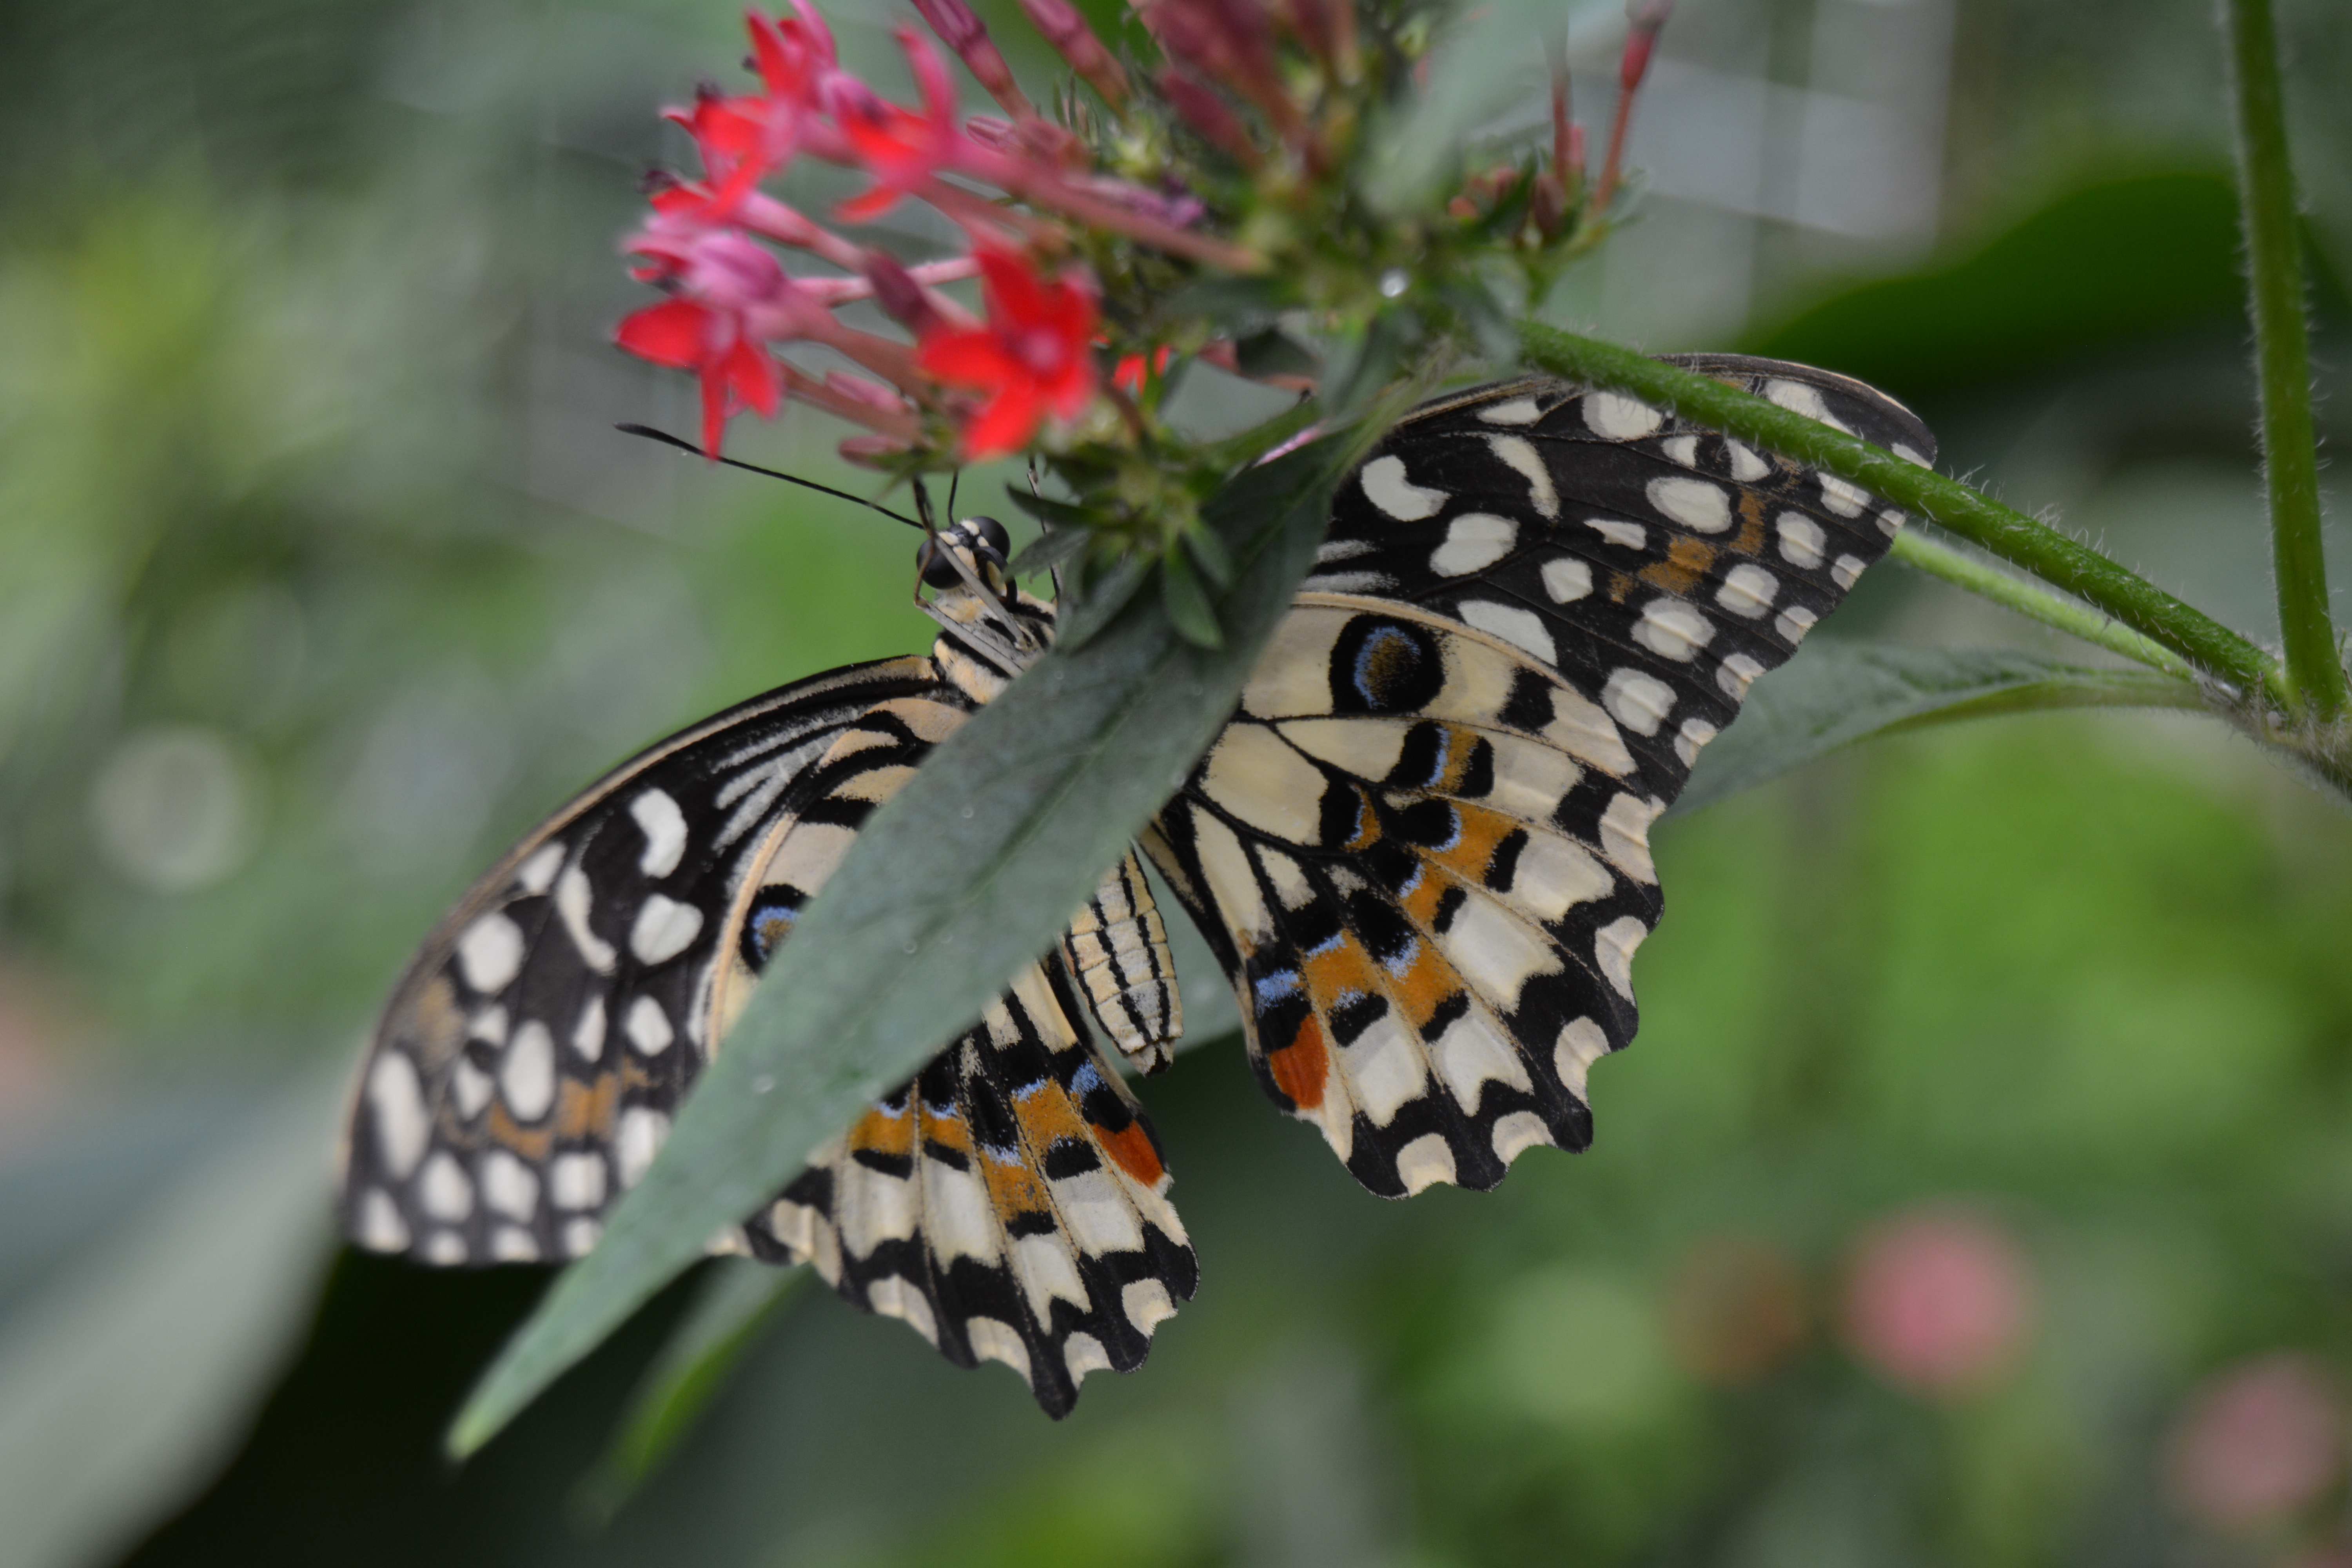
[[[1677,355],[1917,463],[1858,381]],[[1903,515],[1618,393],[1526,376],[1409,414],[1341,484],[1240,708],[1051,952],[715,1251],[809,1262],[1049,1415],[1136,1368],[1200,1265],[1120,1063],[1183,1032],[1157,865],[1254,1072],[1371,1192],[1494,1187],[1592,1140],[1661,917],[1649,827]],[[969,517],[924,545],[929,656],[750,698],[593,783],[435,926],[353,1088],[341,1218],[433,1265],[562,1260],[858,825],[1035,663],[1054,604]]]

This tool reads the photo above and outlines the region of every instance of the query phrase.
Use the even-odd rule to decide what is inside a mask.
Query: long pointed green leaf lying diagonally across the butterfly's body
[[[1378,418],[1209,501],[1240,569],[1211,597],[1223,649],[1188,644],[1157,595],[1136,597],[1082,649],[1047,654],[875,811],[602,1244],[459,1413],[452,1453],[487,1443],[1054,943],[1225,724],[1315,559],[1331,489],[1406,400],[1399,388]]]

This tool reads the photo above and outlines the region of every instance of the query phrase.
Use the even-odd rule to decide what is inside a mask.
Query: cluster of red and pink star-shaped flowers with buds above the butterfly
[[[1543,282],[1588,249],[1665,19],[1661,0],[1630,7],[1599,181],[1585,181],[1555,61],[1550,148],[1395,214],[1362,197],[1367,125],[1411,94],[1435,14],[1374,26],[1350,0],[1138,0],[1162,56],[1143,68],[1068,0],[1021,0],[1070,68],[1049,115],[964,0],[913,0],[1002,110],[964,118],[931,38],[896,31],[917,103],[894,103],[842,68],[807,0],[790,2],[788,16],[748,16],[755,89],[703,87],[670,110],[701,167],[649,179],[652,212],[626,249],[666,299],[621,322],[621,348],[699,376],[713,456],[731,416],[793,400],[861,425],[844,454],[896,473],[1033,451],[1122,550],[1167,548],[1232,463],[1160,416],[1183,360],[1319,386],[1338,414],[1334,378],[1359,397],[1475,336],[1465,287],[1484,287],[1491,256]],[[776,195],[804,160],[863,188],[811,216]],[[854,237],[901,202],[931,207],[960,244],[903,259]],[[1209,280],[1221,287],[1192,287]],[[870,301],[868,327],[844,320],[854,301]],[[788,355],[802,348],[847,364],[804,369],[807,353]]]

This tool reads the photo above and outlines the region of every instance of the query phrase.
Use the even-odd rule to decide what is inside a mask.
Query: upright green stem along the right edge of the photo
[[[2286,637],[2288,703],[2312,717],[2345,710],[2345,668],[2328,621],[2319,550],[2319,442],[2312,430],[2312,343],[2303,308],[2303,233],[2286,162],[2286,94],[2270,0],[2230,0],[2230,96],[2237,110],[2237,200],[2246,223],[2246,315],[2263,388],[2263,482]]]

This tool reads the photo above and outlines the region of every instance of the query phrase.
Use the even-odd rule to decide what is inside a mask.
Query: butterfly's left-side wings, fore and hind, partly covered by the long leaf
[[[376,1030],[346,1140],[353,1239],[442,1265],[595,1246],[800,907],[971,708],[927,658],[837,670],[649,748],[517,844]],[[964,1366],[1014,1363],[1054,1413],[1091,1366],[1131,1368],[1195,1267],[1157,1143],[1075,1006],[1058,957],[1025,969],[922,1093],[821,1150],[739,1244],[814,1260]],[[898,1150],[889,1114],[913,1126],[910,1093],[934,1135]],[[943,1175],[950,1121],[978,1187]],[[894,1152],[917,1192],[849,1175]],[[908,1248],[929,1262],[901,1267]]]

